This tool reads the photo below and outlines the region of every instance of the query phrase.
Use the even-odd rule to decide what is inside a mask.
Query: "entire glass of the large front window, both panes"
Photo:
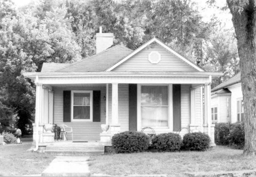
[[[141,126],[168,127],[168,86],[141,86]]]

